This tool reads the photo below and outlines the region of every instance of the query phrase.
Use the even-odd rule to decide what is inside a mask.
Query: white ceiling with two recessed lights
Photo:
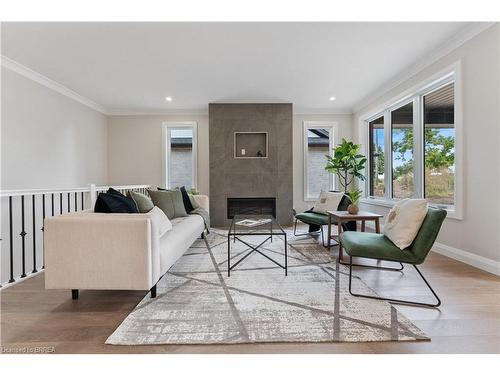
[[[470,23],[3,23],[2,54],[109,112],[349,112]],[[172,102],[165,97],[171,96]],[[329,101],[335,96],[336,101]]]

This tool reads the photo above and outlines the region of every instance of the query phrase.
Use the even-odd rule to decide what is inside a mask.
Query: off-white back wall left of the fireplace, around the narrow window
[[[163,186],[162,123],[198,123],[198,191],[209,193],[208,115],[108,117],[108,182]]]

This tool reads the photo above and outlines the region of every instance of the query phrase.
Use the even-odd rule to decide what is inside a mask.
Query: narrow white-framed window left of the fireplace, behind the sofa
[[[164,124],[163,141],[165,186],[196,188],[196,123]]]

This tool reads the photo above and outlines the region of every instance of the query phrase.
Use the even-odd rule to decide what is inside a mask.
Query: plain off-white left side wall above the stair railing
[[[106,116],[2,67],[2,190],[107,181]]]

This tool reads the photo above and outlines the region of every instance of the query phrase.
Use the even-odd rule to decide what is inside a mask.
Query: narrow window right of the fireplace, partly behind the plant
[[[325,170],[333,146],[336,123],[304,122],[304,200],[318,198],[321,190],[334,189],[333,175]]]

